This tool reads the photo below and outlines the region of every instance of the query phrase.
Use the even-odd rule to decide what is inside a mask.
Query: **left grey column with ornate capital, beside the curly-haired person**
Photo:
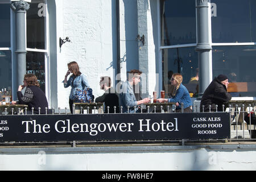
[[[26,74],[26,27],[25,14],[30,5],[23,0],[11,3],[11,9],[15,12],[16,24],[16,61],[17,61],[17,83],[23,85],[23,78]]]

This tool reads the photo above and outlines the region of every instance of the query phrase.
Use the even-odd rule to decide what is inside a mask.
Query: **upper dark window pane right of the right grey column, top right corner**
[[[212,42],[256,41],[255,0],[212,0]]]

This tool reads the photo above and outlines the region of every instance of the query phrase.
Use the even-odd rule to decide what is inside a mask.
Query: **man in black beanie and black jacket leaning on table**
[[[222,105],[224,102],[228,102],[232,98],[227,92],[228,84],[228,77],[225,75],[215,77],[201,98],[200,111],[203,111],[203,105],[205,112],[209,112],[209,110],[216,111],[216,105],[218,105],[218,111],[223,111]],[[211,107],[209,107],[210,105]]]

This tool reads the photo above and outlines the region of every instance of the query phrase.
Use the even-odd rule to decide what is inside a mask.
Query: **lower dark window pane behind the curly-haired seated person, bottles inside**
[[[33,73],[38,78],[40,88],[45,92],[46,77],[44,65],[44,52],[27,52],[27,73]]]

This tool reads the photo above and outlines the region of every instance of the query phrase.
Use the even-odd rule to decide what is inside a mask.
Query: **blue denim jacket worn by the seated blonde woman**
[[[173,98],[169,98],[168,102],[179,102],[179,106],[177,106],[176,109],[181,109],[181,102],[184,104],[184,109],[192,106],[188,90],[182,84],[180,84],[179,89],[177,89],[176,95]]]

